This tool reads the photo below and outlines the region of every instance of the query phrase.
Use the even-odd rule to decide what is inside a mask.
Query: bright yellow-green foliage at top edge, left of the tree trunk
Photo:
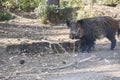
[[[41,1],[44,0],[4,0],[3,5],[7,9],[31,11],[34,10]]]

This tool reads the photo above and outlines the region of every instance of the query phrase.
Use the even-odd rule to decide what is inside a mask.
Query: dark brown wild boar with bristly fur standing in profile
[[[96,39],[103,37],[111,41],[111,50],[116,46],[115,35],[120,34],[119,21],[109,16],[66,21],[70,28],[70,38],[81,40],[81,52],[91,51]]]

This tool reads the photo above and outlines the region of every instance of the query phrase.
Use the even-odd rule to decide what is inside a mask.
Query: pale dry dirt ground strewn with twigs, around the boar
[[[115,50],[107,39],[91,53],[9,54],[8,45],[71,41],[65,25],[49,26],[18,16],[0,23],[0,80],[120,80],[120,38]]]

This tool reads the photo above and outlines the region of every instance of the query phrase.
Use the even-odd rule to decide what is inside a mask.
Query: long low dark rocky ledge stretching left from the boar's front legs
[[[36,42],[32,44],[8,45],[6,51],[9,54],[47,54],[47,53],[68,53],[79,50],[80,41],[75,42]]]

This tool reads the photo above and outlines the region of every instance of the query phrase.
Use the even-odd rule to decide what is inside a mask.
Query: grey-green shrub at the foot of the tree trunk
[[[66,6],[66,4],[58,7],[56,5],[46,5],[45,2],[41,2],[35,9],[35,12],[42,22],[61,23],[75,17],[73,10],[74,8]]]

